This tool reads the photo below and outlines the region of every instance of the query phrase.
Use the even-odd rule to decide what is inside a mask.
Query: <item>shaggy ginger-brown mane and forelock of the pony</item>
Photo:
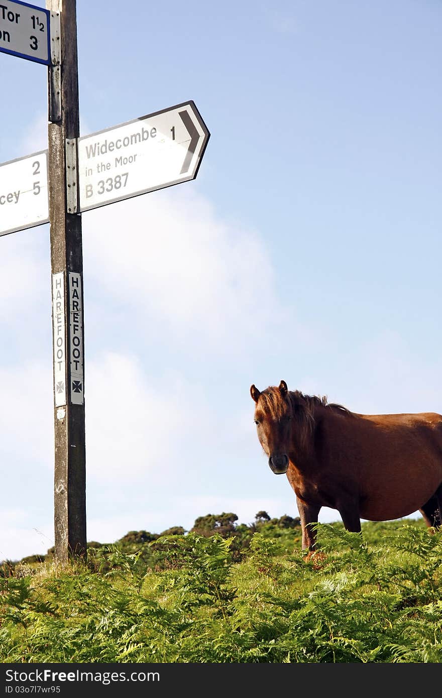
[[[334,402],[329,403],[325,395],[305,395],[300,390],[289,390],[284,394],[279,387],[265,388],[260,393],[257,407],[274,420],[290,415],[296,422],[298,438],[303,445],[314,431],[316,408],[322,407],[347,417],[355,417],[346,407]]]

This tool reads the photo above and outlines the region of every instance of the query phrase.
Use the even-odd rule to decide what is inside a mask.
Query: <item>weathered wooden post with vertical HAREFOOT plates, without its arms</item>
[[[48,66],[48,190],[54,358],[55,557],[86,556],[86,447],[82,221],[78,208],[78,56],[76,0],[46,0],[51,13]],[[59,24],[59,30],[58,30]],[[58,61],[57,61],[58,56]]]

